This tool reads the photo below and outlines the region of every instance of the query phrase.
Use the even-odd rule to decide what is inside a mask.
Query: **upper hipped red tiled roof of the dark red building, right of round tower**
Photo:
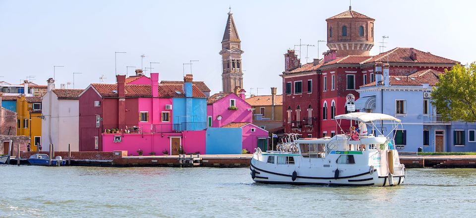
[[[416,60],[410,58],[411,50],[415,51]],[[429,52],[422,52],[413,48],[395,48],[388,52],[380,53],[365,61],[370,62],[407,62],[407,63],[450,63],[456,64],[458,61],[436,56]]]

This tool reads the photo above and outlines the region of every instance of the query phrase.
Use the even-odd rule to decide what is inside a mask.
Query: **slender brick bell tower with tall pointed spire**
[[[222,40],[222,82],[223,92],[231,93],[234,88],[243,88],[243,72],[241,71],[241,41],[239,40],[237,27],[233,20],[233,14],[228,13],[227,26]]]

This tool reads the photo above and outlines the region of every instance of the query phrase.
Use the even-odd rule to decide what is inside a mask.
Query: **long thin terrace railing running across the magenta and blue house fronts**
[[[138,124],[138,125],[103,125],[102,132],[107,133],[107,130],[119,129],[119,133],[165,133],[165,132],[180,132],[180,131],[196,131],[207,128],[206,122],[182,122],[169,124]]]

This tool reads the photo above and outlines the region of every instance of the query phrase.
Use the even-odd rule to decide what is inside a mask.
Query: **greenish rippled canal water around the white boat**
[[[0,173],[0,217],[474,217],[476,209],[476,169],[409,169],[397,187],[259,184],[248,168],[0,165]]]

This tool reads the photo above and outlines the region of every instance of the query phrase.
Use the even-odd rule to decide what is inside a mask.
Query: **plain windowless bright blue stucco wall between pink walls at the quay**
[[[241,154],[241,128],[207,128],[206,154]]]

